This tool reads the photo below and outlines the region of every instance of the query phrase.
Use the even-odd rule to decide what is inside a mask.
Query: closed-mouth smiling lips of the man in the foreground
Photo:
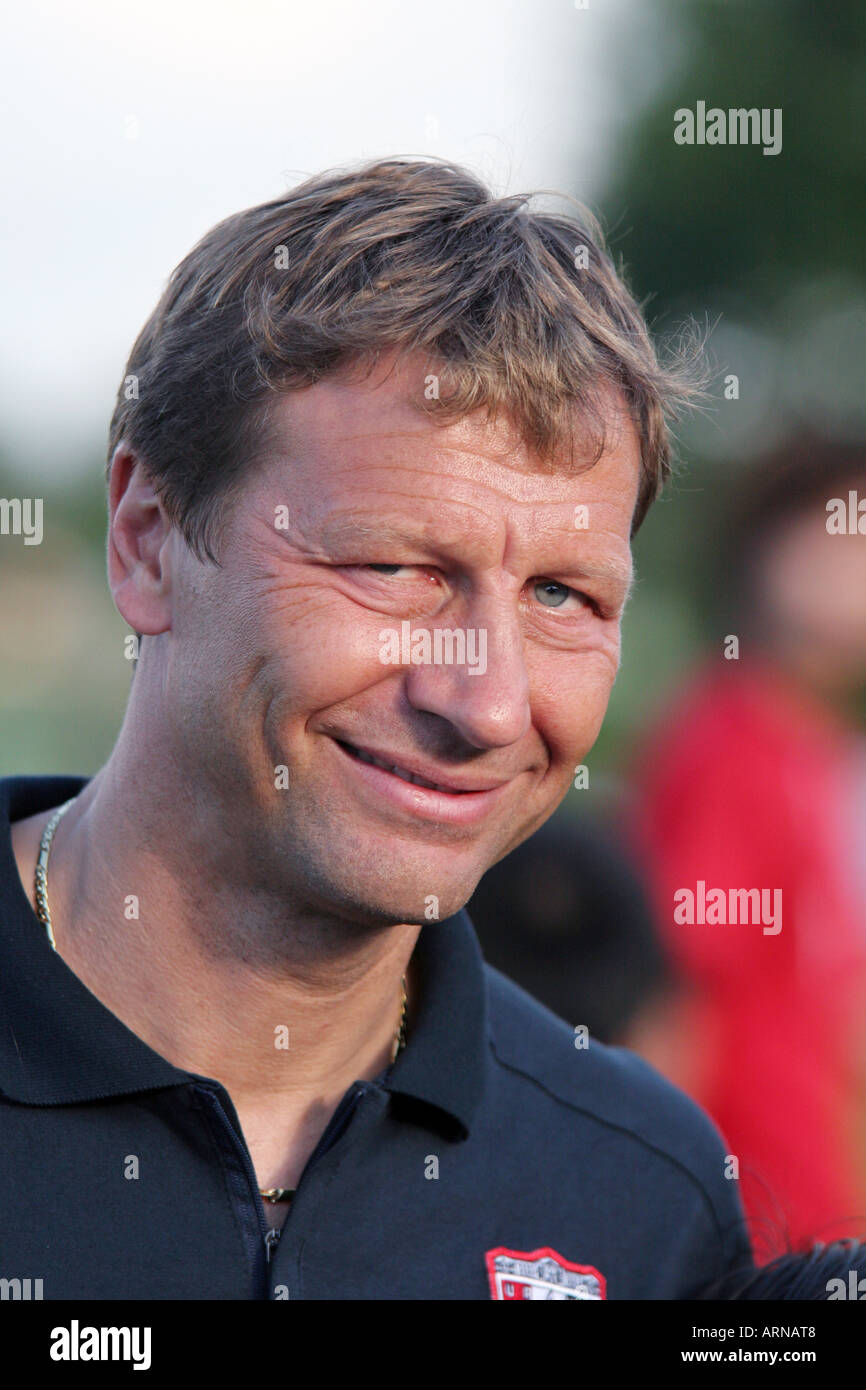
[[[470,826],[478,820],[484,820],[502,799],[505,790],[512,781],[509,778],[509,781],[502,783],[488,781],[460,787],[457,778],[450,773],[439,773],[436,777],[438,769],[424,764],[414,756],[409,759],[393,758],[391,753],[382,753],[379,749],[367,748],[361,744],[350,744],[349,739],[339,739],[334,735],[331,735],[331,742],[338,749],[342,760],[354,769],[359,785],[371,791],[377,803],[386,799],[391,805],[402,810],[409,810],[421,820],[434,820],[450,826]],[[443,785],[448,778],[448,785],[453,787],[453,790],[439,791],[432,787],[421,787],[418,783],[405,781],[385,767],[361,762],[349,752],[349,748],[361,748],[363,752],[374,758],[381,758],[384,762],[388,760],[398,767],[403,767],[406,771],[424,777],[427,781],[436,781],[439,785]]]

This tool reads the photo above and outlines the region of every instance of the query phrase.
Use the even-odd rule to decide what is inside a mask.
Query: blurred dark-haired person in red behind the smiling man
[[[667,705],[638,774],[659,931],[692,987],[671,1074],[738,1158],[759,1257],[780,1232],[866,1229],[866,507],[860,532],[849,493],[866,502],[863,448],[801,435],[755,466],[720,531],[728,656]],[[684,922],[674,894],[699,881],[780,890],[780,930]]]

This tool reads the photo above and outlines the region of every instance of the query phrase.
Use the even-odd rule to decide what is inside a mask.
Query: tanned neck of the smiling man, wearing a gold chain
[[[143,784],[118,744],[60,821],[47,894],[58,954],[154,1051],[222,1083],[239,1112],[331,1111],[391,1062],[420,929],[361,929],[288,903],[235,866],[231,834],[215,835],[158,773]],[[26,851],[14,833],[31,901],[47,813],[32,819]]]

